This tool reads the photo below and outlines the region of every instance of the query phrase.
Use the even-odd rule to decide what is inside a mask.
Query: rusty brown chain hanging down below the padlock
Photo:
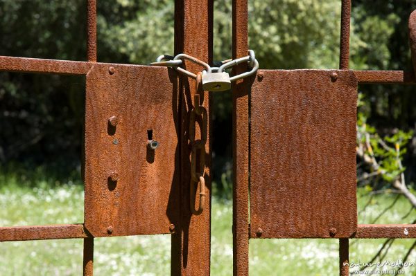
[[[189,143],[192,147],[191,151],[191,183],[190,183],[190,207],[192,214],[201,214],[205,208],[205,145],[207,144],[208,118],[207,109],[200,103],[204,99],[204,91],[202,90],[202,72],[196,75],[196,91],[193,96],[193,109],[189,118]],[[203,103],[203,102],[202,102]],[[197,116],[200,117],[198,124]],[[200,126],[200,140],[195,140],[196,125]],[[199,169],[196,167],[197,155],[199,151]],[[197,170],[198,169],[198,170]],[[198,210],[195,209],[196,187],[200,184],[200,202]]]

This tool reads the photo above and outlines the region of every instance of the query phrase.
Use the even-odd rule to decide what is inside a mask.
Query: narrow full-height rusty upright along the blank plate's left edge
[[[232,57],[247,55],[248,0],[232,1]],[[236,74],[247,70],[247,64],[236,68]],[[248,80],[232,89],[233,145],[233,275],[248,275],[248,187],[249,187],[249,86]]]

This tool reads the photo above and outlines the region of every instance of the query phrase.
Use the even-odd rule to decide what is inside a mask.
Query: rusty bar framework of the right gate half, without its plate
[[[339,70],[349,70],[349,37],[351,0],[341,0]],[[248,0],[232,1],[232,58],[243,57],[248,50]],[[416,64],[415,64],[416,65]],[[414,66],[415,66],[414,65]],[[245,64],[236,73],[247,70]],[[278,71],[278,70],[276,70]],[[358,84],[416,84],[413,72],[352,71]],[[257,77],[263,77],[261,69]],[[233,274],[249,274],[250,235],[250,86],[252,80],[242,80],[232,86],[233,97]],[[404,233],[405,228],[408,230]],[[416,238],[416,224],[358,224],[349,238],[339,240],[340,276],[349,275],[349,239]],[[329,237],[328,239],[333,239]]]

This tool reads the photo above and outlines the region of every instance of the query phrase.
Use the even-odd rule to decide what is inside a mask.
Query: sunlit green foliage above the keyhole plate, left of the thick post
[[[149,64],[159,55],[173,54],[174,1],[118,0],[103,5],[98,6],[98,38],[110,57]],[[99,57],[114,62],[106,55]]]

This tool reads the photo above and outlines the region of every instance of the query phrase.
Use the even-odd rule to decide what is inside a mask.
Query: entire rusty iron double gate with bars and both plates
[[[235,59],[248,53],[248,0],[232,5]],[[342,0],[339,70],[260,70],[232,86],[234,275],[248,275],[249,239],[339,239],[346,276],[349,239],[416,238],[416,225],[357,223],[358,84],[416,80],[413,72],[349,70],[350,15],[351,0]],[[171,234],[171,275],[209,275],[210,130],[205,211],[189,208],[195,85],[171,68],[97,62],[96,0],[87,1],[87,19],[87,62],[0,57],[0,71],[86,76],[85,221],[0,227],[0,241],[84,239],[83,273],[92,275],[94,237]],[[212,28],[213,0],[175,1],[175,53],[212,64]],[[416,13],[409,28],[416,65]],[[245,71],[240,64],[234,74]],[[211,129],[208,93],[203,102]]]

